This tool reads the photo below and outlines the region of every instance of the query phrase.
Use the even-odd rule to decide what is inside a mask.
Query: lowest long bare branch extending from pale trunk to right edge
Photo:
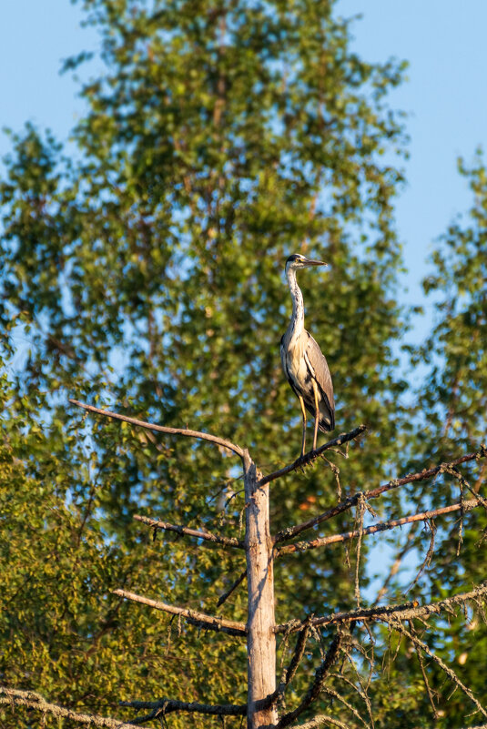
[[[350,613],[331,613],[326,617],[311,618],[310,623],[316,627],[340,623],[367,623],[370,621],[383,620],[390,623],[391,617],[398,620],[411,620],[411,618],[428,617],[431,614],[440,614],[444,610],[450,610],[462,605],[468,600],[478,601],[487,594],[487,582],[477,585],[471,592],[462,592],[452,597],[447,597],[438,602],[431,602],[427,605],[419,605],[418,602],[406,602],[401,605],[380,605],[380,607],[362,608],[353,610]],[[286,633],[302,630],[309,619],[290,621],[276,625],[274,633]]]

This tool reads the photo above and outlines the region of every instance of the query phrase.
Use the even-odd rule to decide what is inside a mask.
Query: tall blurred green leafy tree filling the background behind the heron
[[[12,535],[5,558],[13,562],[5,600],[17,616],[2,628],[1,670],[5,683],[101,713],[117,712],[120,698],[160,694],[241,701],[241,646],[178,634],[109,592],[131,586],[214,612],[241,557],[151,544],[132,517],[144,511],[238,532],[234,461],[86,420],[66,400],[218,432],[247,445],[263,469],[288,462],[300,436],[279,362],[290,310],[282,267],[293,250],[312,250],[330,260],[330,272],[300,283],[339,393],[339,428],[365,421],[370,429],[349,461],[334,459],[341,488],[379,482],[403,468],[405,455],[411,463],[413,453],[440,456],[432,393],[442,364],[429,384],[438,420],[424,437],[416,408],[403,404],[407,383],[392,353],[408,321],[395,296],[393,220],[406,139],[387,94],[404,66],[351,53],[350,24],[333,3],[83,7],[102,38],[106,71],[82,88],[89,111],[73,132],[76,155],[27,125],[12,137],[0,185],[9,372],[2,481]],[[17,355],[12,368],[19,337],[24,361]],[[435,364],[441,358],[442,347]],[[402,440],[416,431],[422,450]],[[334,501],[337,481],[324,466],[289,477],[285,488],[273,499],[276,531]],[[234,492],[220,511],[221,495]],[[399,497],[388,507],[399,509]],[[341,525],[352,524],[347,517]],[[326,560],[283,560],[278,620],[353,604],[353,560],[340,548]],[[458,584],[456,573],[451,581]],[[242,592],[225,611],[243,618]],[[390,686],[407,697],[411,721],[424,716],[417,671],[402,660],[408,671],[378,688],[377,718],[388,725],[394,716],[404,725],[380,704]],[[18,716],[6,721],[18,725]]]

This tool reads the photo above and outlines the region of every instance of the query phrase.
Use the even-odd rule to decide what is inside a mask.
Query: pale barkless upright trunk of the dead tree
[[[269,530],[269,485],[258,488],[259,476],[248,451],[243,453],[246,502],[246,553],[249,585],[248,729],[277,724],[276,706],[256,710],[256,702],[276,689],[274,634],[274,571]]]

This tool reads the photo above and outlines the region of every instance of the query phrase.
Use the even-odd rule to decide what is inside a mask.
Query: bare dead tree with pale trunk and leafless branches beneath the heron
[[[431,521],[441,514],[455,511],[459,512],[463,518],[463,515],[467,511],[479,506],[487,508],[487,501],[479,494],[478,489],[470,489],[468,482],[464,480],[462,473],[458,471],[458,466],[462,463],[484,458],[487,455],[485,446],[482,445],[479,451],[464,455],[455,461],[442,463],[429,470],[409,474],[403,478],[395,479],[376,488],[372,488],[369,491],[357,492],[339,501],[327,511],[318,514],[312,519],[303,521],[273,535],[270,532],[269,526],[269,484],[291,471],[308,466],[313,461],[316,461],[325,451],[338,449],[341,445],[357,439],[366,430],[363,425],[351,430],[349,433],[341,433],[338,438],[330,440],[316,451],[311,451],[304,458],[299,458],[297,461],[290,463],[279,471],[262,475],[257,465],[252,461],[247,449],[241,448],[218,436],[196,430],[167,428],[148,423],[144,420],[129,418],[109,410],[100,410],[78,402],[77,400],[71,400],[71,402],[94,414],[105,418],[123,420],[137,428],[174,434],[184,438],[206,440],[218,445],[220,448],[226,449],[240,459],[245,484],[246,507],[246,529],[245,539],[243,541],[236,537],[227,537],[215,532],[208,532],[204,529],[190,529],[186,526],[171,524],[145,516],[136,516],[135,518],[137,521],[147,524],[148,527],[156,531],[177,532],[188,538],[196,538],[203,542],[213,542],[224,545],[225,547],[245,551],[246,572],[240,575],[238,581],[220,598],[219,604],[225,602],[228,595],[247,577],[249,599],[247,623],[238,623],[227,618],[199,613],[188,608],[159,602],[125,590],[117,590],[115,592],[127,600],[143,603],[165,613],[178,615],[181,619],[186,620],[191,625],[198,626],[200,629],[228,633],[245,639],[247,641],[248,656],[248,701],[247,705],[186,703],[178,701],[175,698],[164,698],[157,701],[141,700],[122,702],[121,705],[123,706],[131,707],[139,712],[146,712],[128,722],[97,716],[95,714],[76,714],[76,712],[70,709],[47,703],[39,694],[17,691],[7,687],[0,687],[0,704],[24,705],[31,709],[37,709],[44,714],[54,714],[59,717],[66,716],[79,724],[109,727],[110,729],[124,729],[124,727],[128,726],[139,726],[140,724],[146,724],[157,719],[164,721],[164,717],[167,714],[174,712],[218,715],[220,717],[247,717],[248,729],[264,729],[264,727],[265,729],[284,729],[287,726],[299,726],[300,729],[314,729],[323,725],[347,727],[347,724],[342,723],[330,715],[315,716],[305,724],[296,724],[296,722],[299,720],[299,716],[306,712],[321,694],[328,695],[330,698],[337,699],[338,701],[344,701],[340,694],[330,688],[327,683],[329,683],[330,675],[336,669],[338,663],[340,663],[340,656],[346,658],[350,653],[351,631],[358,623],[365,625],[369,631],[373,623],[383,623],[392,632],[398,634],[398,636],[405,637],[409,640],[414,650],[418,653],[425,690],[430,697],[433,715],[435,714],[434,698],[431,694],[427,674],[422,663],[423,656],[425,655],[441,668],[441,671],[456,688],[462,690],[463,694],[472,703],[473,713],[481,714],[483,717],[482,721],[487,718],[487,710],[480,704],[474,694],[472,694],[469,687],[462,683],[461,679],[453,672],[449,665],[444,663],[435,653],[431,652],[428,644],[421,640],[414,627],[414,621],[417,619],[424,621],[424,619],[434,614],[443,612],[451,613],[451,611],[459,607],[464,608],[467,603],[477,605],[482,610],[482,602],[485,601],[487,595],[487,582],[474,586],[468,592],[456,594],[450,598],[430,604],[420,604],[414,601],[387,606],[373,605],[368,608],[360,608],[359,606],[356,610],[351,610],[350,612],[311,616],[302,620],[293,619],[288,623],[276,624],[274,617],[273,578],[274,561],[279,559],[283,554],[304,552],[320,548],[332,542],[346,542],[352,539],[357,539],[358,552],[360,552],[361,541],[369,534],[391,530],[402,524],[414,521]],[[407,483],[431,479],[441,472],[451,473],[456,479],[461,481],[461,499],[458,503],[452,503],[447,507],[433,511],[423,511],[401,517],[400,519],[383,521],[367,527],[364,526],[363,516],[365,511],[370,508],[369,501],[378,499],[383,493],[392,489],[399,489]],[[463,493],[466,490],[471,492],[472,498],[463,498]],[[324,521],[328,521],[340,513],[353,508],[357,508],[360,514],[357,529],[350,532],[332,534],[327,537],[316,537],[307,542],[296,541],[296,538],[303,532],[307,532]],[[360,605],[358,568],[356,573],[356,593],[358,597],[357,602]],[[330,626],[335,633],[330,639],[326,650],[323,651],[320,665],[309,683],[308,690],[293,710],[289,712],[282,711],[281,707],[283,705],[282,700],[284,694],[297,672],[299,663],[303,659],[310,634],[313,632],[316,633],[318,629],[325,626]],[[276,638],[280,634],[288,640],[289,636],[293,633],[297,633],[294,652],[290,658],[289,665],[286,666],[279,676],[278,683],[276,676]],[[364,694],[364,701],[368,704],[366,691],[362,691],[361,693]],[[347,705],[353,713],[353,707],[350,707],[349,704]],[[360,716],[357,715],[357,718],[360,718]],[[362,720],[360,719],[360,721]],[[367,725],[367,723],[365,724]]]

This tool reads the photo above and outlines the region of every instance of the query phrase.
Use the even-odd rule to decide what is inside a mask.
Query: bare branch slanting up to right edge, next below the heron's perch
[[[397,489],[399,486],[404,486],[406,483],[411,483],[412,481],[426,481],[427,479],[431,479],[431,476],[436,476],[436,474],[440,473],[440,471],[445,471],[447,467],[458,466],[460,463],[465,463],[466,461],[478,461],[481,458],[485,458],[485,456],[487,456],[487,449],[482,444],[478,451],[475,451],[474,453],[467,453],[466,456],[457,458],[455,461],[441,463],[439,466],[435,466],[434,468],[427,470],[425,469],[418,473],[410,473],[409,476],[404,476],[401,479],[393,479],[382,486],[378,486],[376,489],[370,489],[370,491],[358,491],[353,494],[353,496],[349,496],[348,499],[340,501],[340,503],[336,506],[332,506],[328,511],[324,511],[322,514],[318,514],[318,516],[315,516],[308,521],[303,521],[300,524],[296,524],[293,527],[288,527],[288,529],[282,530],[282,532],[278,532],[274,537],[274,543],[287,542],[289,539],[298,536],[301,532],[305,532],[307,529],[312,529],[322,521],[328,521],[329,519],[338,516],[338,514],[343,513],[343,511],[348,511],[352,506],[355,506],[355,504],[358,503],[362,496],[366,501],[369,501],[370,499],[377,499],[377,497],[381,496],[382,493],[391,491],[391,489]]]

